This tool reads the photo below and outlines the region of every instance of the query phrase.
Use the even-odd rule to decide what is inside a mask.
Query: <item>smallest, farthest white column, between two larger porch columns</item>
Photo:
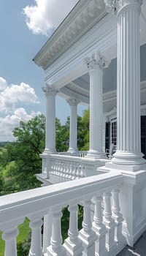
[[[70,126],[69,126],[69,150],[71,154],[77,154],[77,99],[67,99],[70,106]]]

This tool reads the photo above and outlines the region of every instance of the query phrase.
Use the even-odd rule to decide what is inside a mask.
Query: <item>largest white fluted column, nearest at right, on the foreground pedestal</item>
[[[141,0],[105,0],[107,11],[118,18],[117,152],[112,162],[145,163],[140,137],[140,36]]]

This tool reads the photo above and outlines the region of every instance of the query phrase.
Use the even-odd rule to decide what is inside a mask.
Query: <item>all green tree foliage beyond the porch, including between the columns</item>
[[[67,151],[69,117],[64,125],[55,118],[55,126],[56,150]],[[82,117],[77,117],[77,126],[78,149],[88,150],[89,110],[85,110]],[[20,126],[15,127],[13,135],[15,142],[6,143],[4,148],[0,149],[0,192],[3,190],[5,194],[40,186],[35,174],[42,172],[42,159],[39,154],[42,154],[45,149],[45,116],[36,116],[27,123],[20,121]],[[7,170],[9,162],[13,164]]]

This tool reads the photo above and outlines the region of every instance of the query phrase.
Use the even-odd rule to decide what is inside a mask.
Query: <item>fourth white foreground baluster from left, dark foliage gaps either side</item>
[[[64,247],[66,248],[66,255],[82,255],[82,241],[78,238],[78,227],[77,227],[77,204],[69,205],[69,231],[68,238],[66,238]]]

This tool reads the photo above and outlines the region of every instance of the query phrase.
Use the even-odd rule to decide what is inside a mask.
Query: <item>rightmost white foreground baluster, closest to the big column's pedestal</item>
[[[115,241],[119,244],[125,244],[125,238],[122,234],[123,215],[120,213],[119,205],[120,189],[115,188],[112,190],[112,217],[115,219]]]

